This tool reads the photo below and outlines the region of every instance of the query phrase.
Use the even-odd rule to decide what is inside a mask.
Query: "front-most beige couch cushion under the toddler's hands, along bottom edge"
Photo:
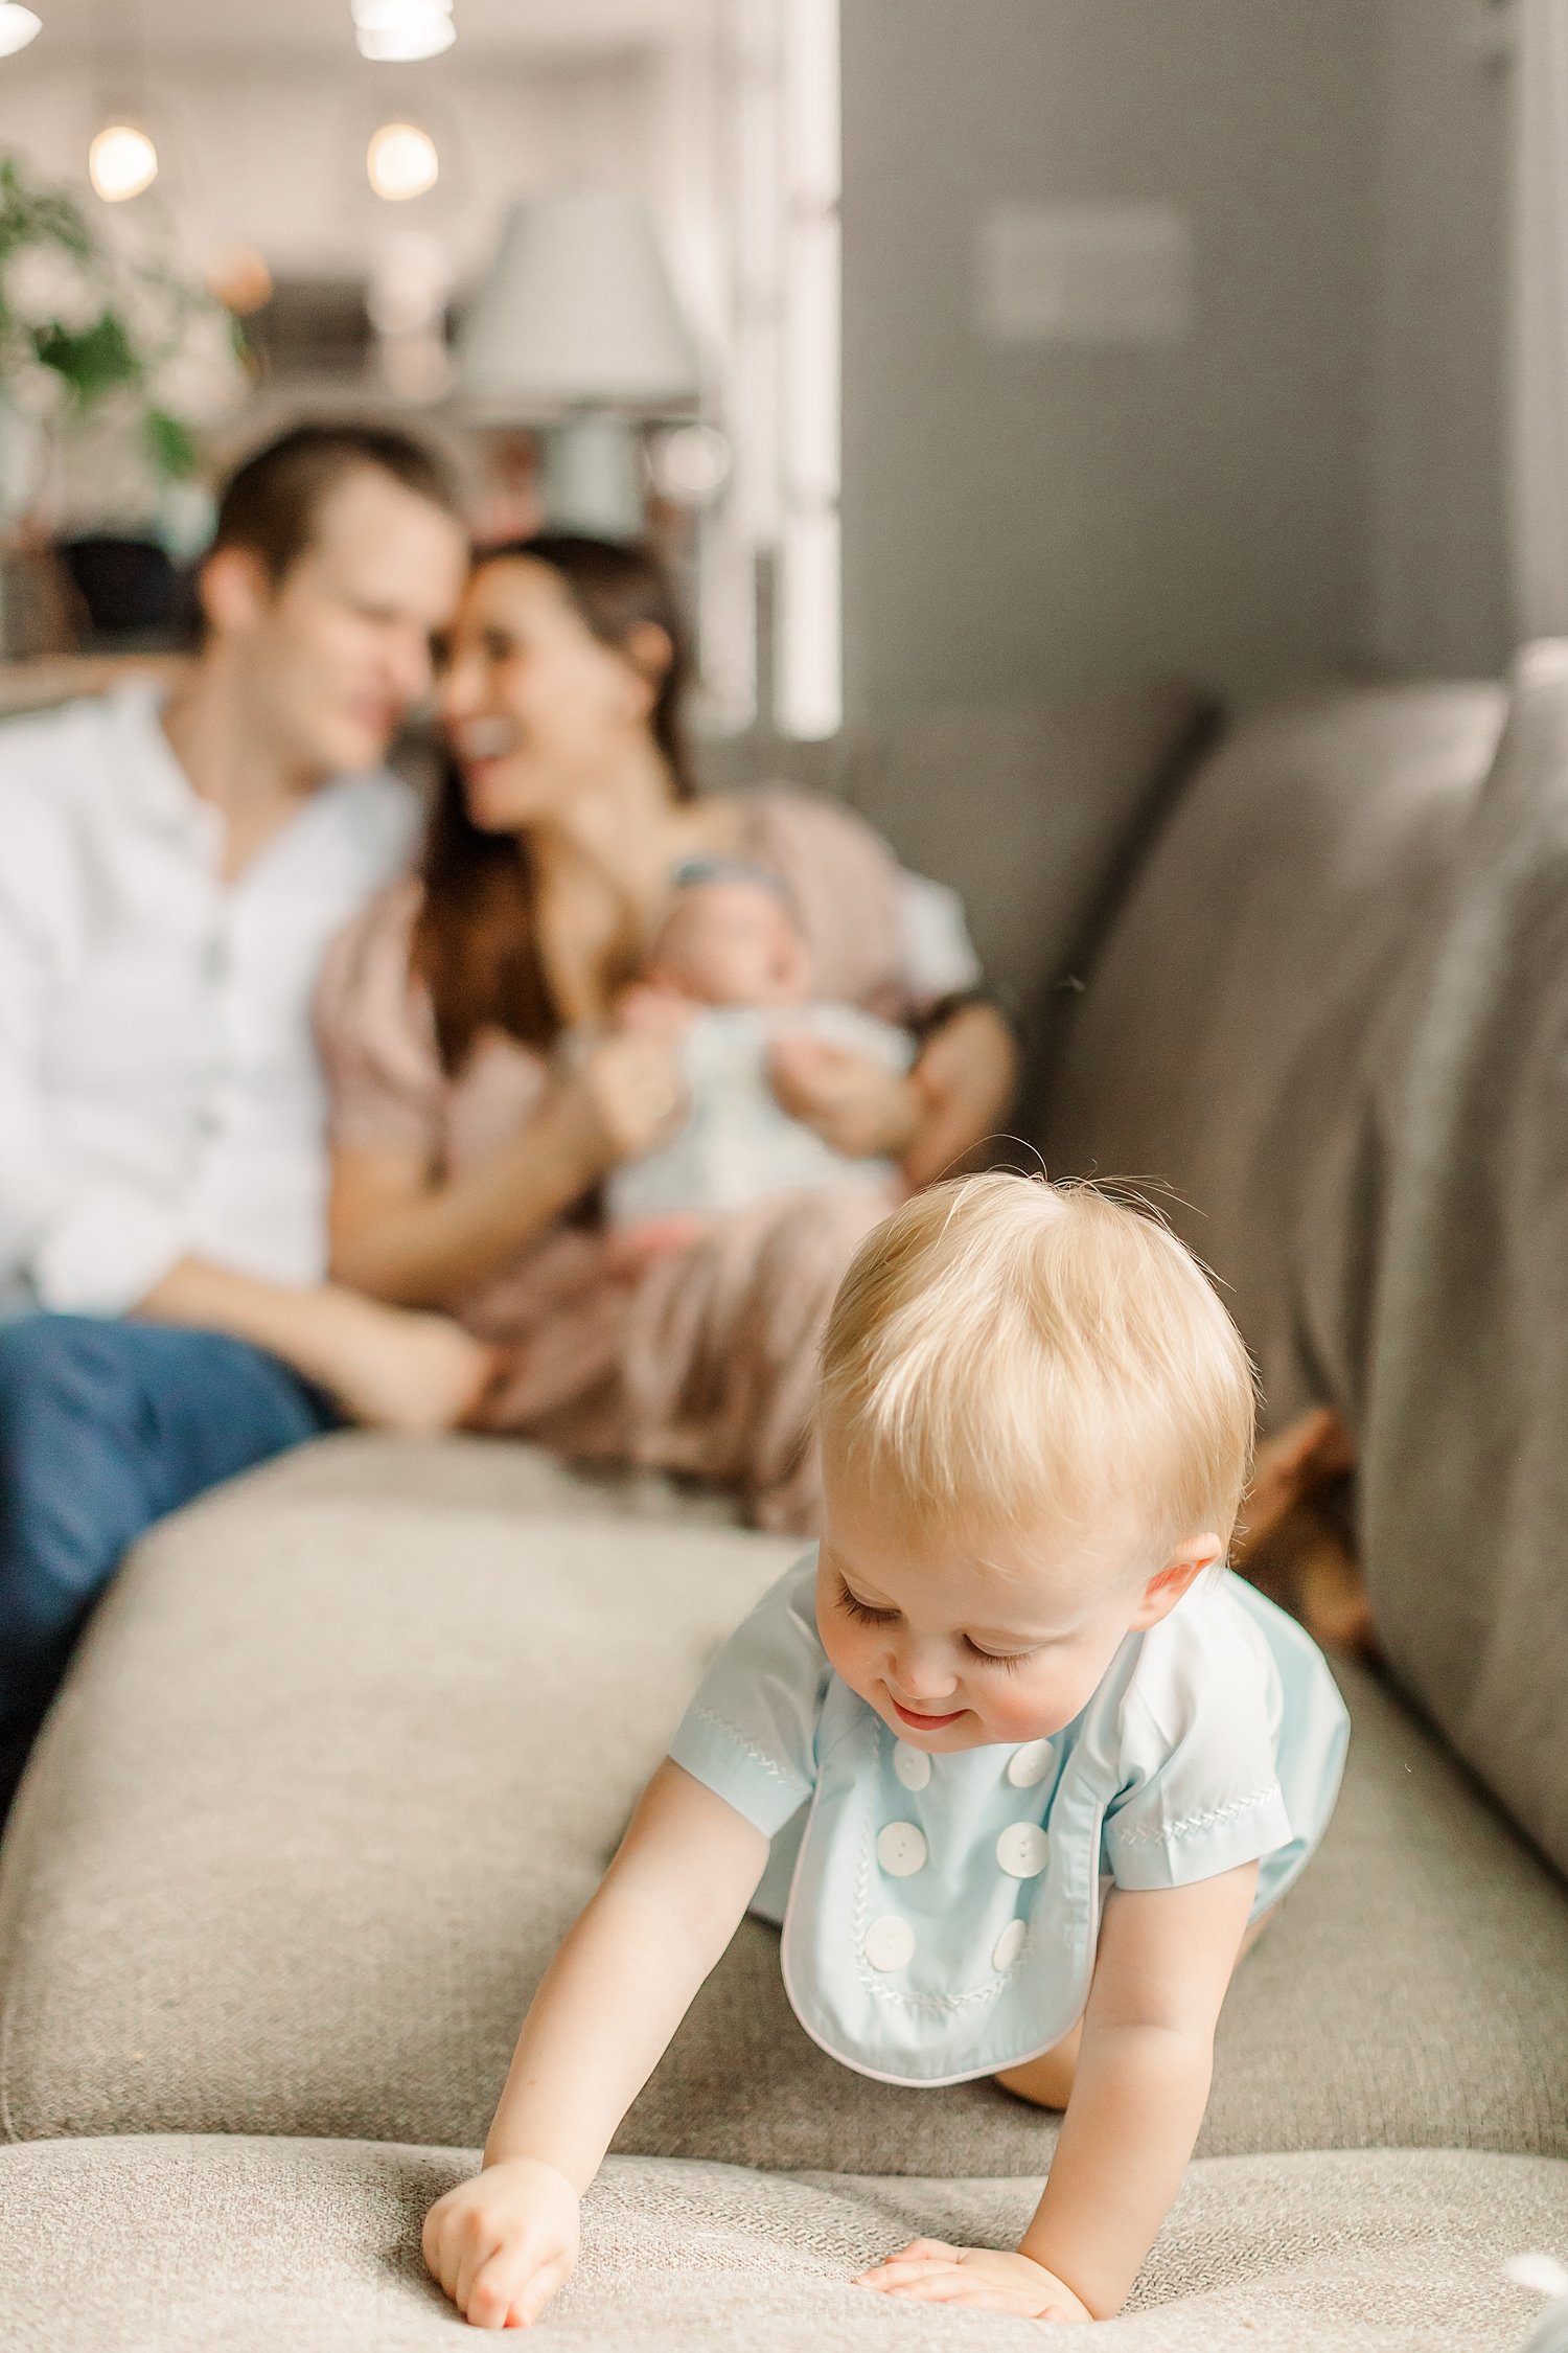
[[[0,2153],[0,2334],[16,2353],[425,2353],[458,2320],[425,2207],[473,2158],[367,2141],[42,2141]],[[611,2158],[541,2341],[581,2353],[1039,2346],[1030,2320],[851,2287],[924,2231],[1016,2242],[1039,2184],[736,2172]],[[1194,2165],[1112,2353],[1486,2353],[1533,2297],[1568,2167],[1458,2153]]]

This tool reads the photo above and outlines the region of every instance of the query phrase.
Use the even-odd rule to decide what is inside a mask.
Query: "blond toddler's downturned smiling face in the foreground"
[[[1147,1544],[1117,1525],[954,1534],[830,1461],[816,1619],[851,1692],[940,1755],[1060,1732],[1126,1635],[1218,1558],[1201,1537],[1150,1574]]]

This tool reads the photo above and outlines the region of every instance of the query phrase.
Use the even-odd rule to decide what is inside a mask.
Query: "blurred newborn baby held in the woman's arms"
[[[743,1209],[778,1193],[827,1184],[886,1186],[891,1160],[851,1160],[769,1085],[776,1038],[811,1035],[851,1047],[889,1071],[907,1071],[905,1031],[853,1005],[813,1002],[811,953],[783,885],[741,859],[696,859],[675,878],[644,979],[621,1019],[679,1033],[686,1122],[607,1186],[614,1226]]]

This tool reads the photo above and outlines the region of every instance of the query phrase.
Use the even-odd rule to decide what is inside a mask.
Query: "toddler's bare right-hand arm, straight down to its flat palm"
[[[1180,2188],[1258,1864],[1192,1887],[1112,1889],[1051,2179],[1018,2254],[914,2240],[865,2275],[889,2294],[1110,2320]]]

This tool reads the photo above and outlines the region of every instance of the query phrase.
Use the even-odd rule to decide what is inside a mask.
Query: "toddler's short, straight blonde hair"
[[[1253,1419],[1253,1367],[1199,1261],[1091,1184],[917,1193],[856,1252],[823,1339],[830,1464],[943,1520],[1091,1527],[1131,1506],[1161,1560],[1229,1544]]]

